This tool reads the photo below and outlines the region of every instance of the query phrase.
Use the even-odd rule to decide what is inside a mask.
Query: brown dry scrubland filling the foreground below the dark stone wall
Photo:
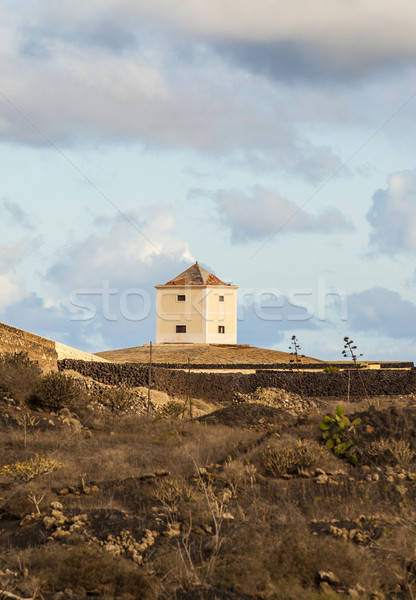
[[[352,466],[322,443],[333,406],[189,420],[56,380],[51,412],[51,380],[16,360],[23,387],[0,365],[0,469],[36,454],[62,468],[0,476],[4,598],[416,597],[413,398],[345,405],[362,419]]]

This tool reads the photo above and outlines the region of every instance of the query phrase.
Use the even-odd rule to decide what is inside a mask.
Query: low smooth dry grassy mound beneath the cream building
[[[111,362],[137,362],[149,361],[148,344],[134,348],[109,350],[98,352],[97,356],[106,358]],[[153,344],[153,362],[155,363],[186,363],[188,358],[192,363],[205,364],[261,364],[261,363],[288,363],[293,356],[288,352],[256,348],[246,344]],[[308,356],[301,358],[302,362],[322,362]]]

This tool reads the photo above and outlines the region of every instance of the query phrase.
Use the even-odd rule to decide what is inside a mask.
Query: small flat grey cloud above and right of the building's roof
[[[337,209],[328,207],[314,215],[270,189],[256,186],[251,194],[219,190],[218,211],[237,242],[261,240],[274,233],[330,234],[351,231],[352,224]]]

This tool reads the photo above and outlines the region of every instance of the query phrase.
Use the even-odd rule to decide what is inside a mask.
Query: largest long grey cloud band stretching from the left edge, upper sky
[[[184,62],[163,42],[149,44],[119,55],[46,38],[46,57],[39,57],[19,53],[15,40],[0,53],[1,89],[8,97],[0,96],[0,137],[26,144],[101,139],[257,152],[263,164],[312,178],[339,166],[330,149],[306,140],[282,94],[255,75],[242,77],[209,51]],[[198,54],[193,47],[186,52]]]

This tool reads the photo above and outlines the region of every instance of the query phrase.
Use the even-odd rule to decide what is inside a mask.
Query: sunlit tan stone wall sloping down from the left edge
[[[55,342],[23,329],[0,323],[0,354],[27,352],[43,371],[57,369]]]

